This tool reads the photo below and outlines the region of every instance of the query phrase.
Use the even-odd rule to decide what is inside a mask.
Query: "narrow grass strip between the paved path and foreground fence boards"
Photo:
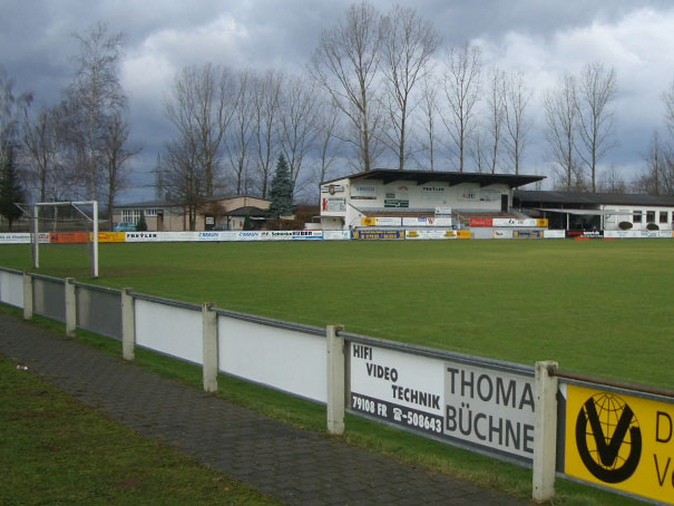
[[[0,311],[14,313],[17,317],[20,314],[13,309],[0,308]],[[35,322],[57,332],[64,332],[64,325],[60,323],[39,317],[36,317]],[[77,331],[76,339],[113,356],[121,356],[121,343],[118,341],[81,330]],[[164,378],[180,381],[194,388],[202,388],[202,369],[198,366],[143,349],[136,350],[135,363]],[[256,385],[221,374],[217,396],[299,428],[318,432],[324,432],[325,429],[324,407]],[[340,439],[351,445],[378,451],[406,464],[465,478],[500,493],[524,499],[531,497],[529,469],[349,415],[345,425],[345,435]],[[553,502],[554,505],[628,506],[642,504],[634,499],[561,479],[557,480],[556,489],[557,496]]]

